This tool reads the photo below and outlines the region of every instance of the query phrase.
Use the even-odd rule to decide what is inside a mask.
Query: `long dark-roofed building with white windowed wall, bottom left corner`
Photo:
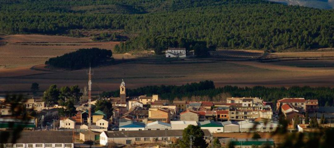
[[[13,138],[10,136],[8,141],[12,141]],[[8,142],[0,145],[4,148],[74,148],[74,133],[72,131],[22,131],[16,143]]]

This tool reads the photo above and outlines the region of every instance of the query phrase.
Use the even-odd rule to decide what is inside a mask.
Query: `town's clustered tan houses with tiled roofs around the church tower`
[[[224,102],[168,102],[160,100],[158,95],[130,98],[126,96],[126,85],[123,80],[120,85],[120,97],[104,99],[112,103],[113,116],[108,119],[107,113],[98,110],[92,112],[90,120],[87,103],[77,106],[77,113],[71,117],[58,117],[57,106],[47,108],[45,102],[28,99],[23,102],[24,106],[35,110],[37,115],[25,123],[25,128],[36,129],[45,126],[43,124],[45,122],[53,121],[53,129],[63,129],[63,133],[45,131],[41,135],[55,132],[55,135],[73,136],[74,133],[69,134],[66,130],[75,130],[79,131],[82,141],[99,141],[101,145],[108,146],[110,143],[173,143],[182,139],[182,131],[185,128],[194,125],[203,130],[204,139],[207,142],[212,142],[214,133],[274,132],[280,126],[277,120],[273,120],[274,112],[282,113],[288,121],[291,121],[295,116],[304,117],[305,112],[314,113],[321,110],[317,100],[304,98],[283,98],[277,101],[276,106],[258,97],[231,97],[226,98]],[[96,102],[97,100],[91,101],[92,105]],[[275,111],[273,107],[276,107]],[[5,100],[2,100],[0,109],[0,128],[8,127],[9,122],[19,123],[19,119],[11,118],[11,107]],[[58,122],[54,122],[55,120]],[[89,121],[91,121],[90,125]],[[36,131],[24,133],[29,135],[33,132]],[[239,141],[234,139],[234,143],[238,145]],[[261,140],[258,143],[261,143]],[[9,143],[6,147],[21,147],[21,144],[23,147],[31,146],[23,140],[18,145]],[[55,140],[52,145],[48,141],[38,141],[37,144],[43,144],[42,147],[60,147],[60,144],[63,148],[73,147],[72,142],[61,140]],[[33,147],[39,146],[41,145]]]

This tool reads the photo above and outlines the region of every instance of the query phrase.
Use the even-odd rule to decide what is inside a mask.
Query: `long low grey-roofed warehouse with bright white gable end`
[[[151,131],[105,131],[100,134],[100,144],[108,146],[116,144],[142,144],[175,142],[182,138],[183,130],[151,130]],[[209,130],[203,130],[204,139],[209,143],[212,134]]]

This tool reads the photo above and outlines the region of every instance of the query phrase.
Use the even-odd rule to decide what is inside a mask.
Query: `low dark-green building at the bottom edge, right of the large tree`
[[[254,146],[274,147],[273,139],[231,139],[231,145],[237,148],[252,148]]]

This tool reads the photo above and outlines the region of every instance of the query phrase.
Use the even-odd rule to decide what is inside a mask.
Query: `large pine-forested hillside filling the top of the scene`
[[[334,47],[334,11],[262,0],[2,0],[0,33],[124,29],[120,52],[167,47],[285,51]]]

